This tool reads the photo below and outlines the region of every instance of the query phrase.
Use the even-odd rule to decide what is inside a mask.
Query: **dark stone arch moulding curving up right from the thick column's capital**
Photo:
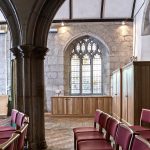
[[[34,45],[46,47],[49,27],[57,10],[64,1],[65,0],[46,0],[36,22]]]

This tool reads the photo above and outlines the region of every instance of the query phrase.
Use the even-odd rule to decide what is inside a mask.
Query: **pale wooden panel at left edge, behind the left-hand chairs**
[[[0,96],[0,115],[7,115],[8,111],[8,96],[7,95],[2,95]]]

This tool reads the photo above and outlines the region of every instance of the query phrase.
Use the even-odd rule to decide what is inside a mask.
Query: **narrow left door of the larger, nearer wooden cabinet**
[[[128,121],[128,81],[127,68],[122,70],[122,121]]]

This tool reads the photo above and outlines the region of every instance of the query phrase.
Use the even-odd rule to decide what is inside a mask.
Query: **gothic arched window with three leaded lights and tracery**
[[[102,94],[102,59],[98,43],[90,37],[78,40],[71,52],[70,93]]]

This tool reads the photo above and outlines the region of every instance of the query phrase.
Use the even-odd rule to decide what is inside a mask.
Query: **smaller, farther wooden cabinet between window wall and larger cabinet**
[[[121,119],[122,117],[122,71],[118,69],[111,76],[111,93],[112,93],[112,115]]]

